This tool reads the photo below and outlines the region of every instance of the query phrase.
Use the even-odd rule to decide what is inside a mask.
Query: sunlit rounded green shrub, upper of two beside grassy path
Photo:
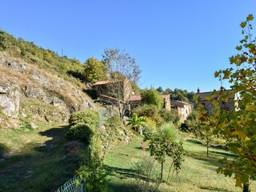
[[[99,125],[100,118],[98,112],[94,110],[78,111],[70,115],[70,126],[74,126],[78,123],[87,124],[92,128],[96,128]]]

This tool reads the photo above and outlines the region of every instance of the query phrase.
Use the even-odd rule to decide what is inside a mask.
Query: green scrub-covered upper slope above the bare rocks
[[[5,41],[5,49],[2,49],[2,53],[6,56],[38,65],[39,68],[50,71],[52,74],[58,74],[62,78],[74,76],[83,80],[83,66],[77,59],[67,58],[65,55],[60,56],[52,50],[36,46],[34,42],[14,38],[2,30],[0,30],[0,35],[3,37],[1,39]]]

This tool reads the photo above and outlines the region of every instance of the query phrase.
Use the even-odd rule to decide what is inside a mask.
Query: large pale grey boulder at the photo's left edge
[[[19,86],[12,82],[0,80],[0,108],[10,118],[18,117]]]

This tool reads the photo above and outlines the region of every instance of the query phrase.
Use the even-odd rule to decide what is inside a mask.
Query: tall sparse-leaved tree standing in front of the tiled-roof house
[[[106,49],[102,54],[103,62],[106,65],[107,74],[110,83],[107,90],[110,90],[111,96],[117,100],[120,118],[123,117],[124,104],[132,93],[132,85],[138,84],[141,70],[135,59],[125,50]]]

